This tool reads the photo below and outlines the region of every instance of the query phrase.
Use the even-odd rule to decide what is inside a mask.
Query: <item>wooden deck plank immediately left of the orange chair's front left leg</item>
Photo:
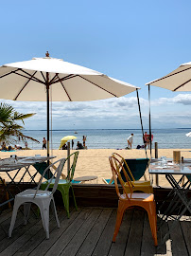
[[[108,255],[108,252],[112,245],[115,220],[116,220],[116,209],[113,210],[110,216],[110,219],[99,238],[96,248],[92,254],[93,256]]]

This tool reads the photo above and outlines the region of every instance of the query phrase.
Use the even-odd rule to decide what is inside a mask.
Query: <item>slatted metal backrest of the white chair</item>
[[[48,188],[49,188],[49,186],[50,186],[50,184],[51,184],[51,182],[52,182],[52,180],[53,180],[53,178],[54,178],[55,181],[54,181],[54,187],[53,187],[53,189],[52,189],[52,193],[56,192],[57,187],[58,187],[58,183],[59,183],[59,180],[60,180],[60,177],[61,177],[61,172],[62,172],[63,166],[64,166],[64,164],[65,164],[65,161],[66,161],[66,158],[61,158],[61,159],[55,161],[54,163],[50,164],[50,165],[43,171],[43,175],[42,175],[42,177],[41,177],[41,179],[40,179],[39,185],[38,185],[37,190],[36,190],[36,192],[35,192],[35,194],[34,194],[34,198],[36,197],[36,194],[37,194],[37,192],[39,191],[39,189],[40,189],[40,187],[41,187],[41,184],[42,184],[42,181],[43,181],[43,177],[44,177],[44,175],[46,174],[46,172],[48,172],[52,167],[54,167],[56,163],[59,163],[59,166],[57,167],[56,170],[52,168],[52,171],[51,171],[51,172],[52,172],[52,177],[47,181],[47,186],[46,186],[46,188],[45,188],[45,191],[47,191]]]

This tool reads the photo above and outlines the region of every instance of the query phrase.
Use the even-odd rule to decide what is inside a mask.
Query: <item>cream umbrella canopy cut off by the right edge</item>
[[[191,63],[181,64],[177,69],[160,79],[146,83],[171,91],[191,91]]]

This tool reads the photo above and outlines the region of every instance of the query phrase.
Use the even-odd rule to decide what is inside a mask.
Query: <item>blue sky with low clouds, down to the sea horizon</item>
[[[0,64],[51,57],[80,64],[142,89],[191,61],[190,1],[4,1]],[[45,129],[44,102],[12,102],[36,112],[26,129]],[[153,128],[191,127],[191,95],[151,87]],[[140,128],[136,94],[107,101],[53,102],[53,128]]]

